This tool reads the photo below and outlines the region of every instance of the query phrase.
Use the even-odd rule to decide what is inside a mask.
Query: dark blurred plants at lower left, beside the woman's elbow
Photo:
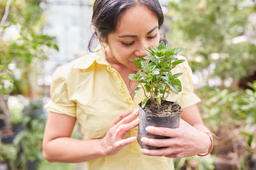
[[[28,162],[40,162],[46,115],[41,101],[32,101],[22,111],[18,129],[12,143],[0,145],[0,162],[7,162],[9,169],[28,169]]]

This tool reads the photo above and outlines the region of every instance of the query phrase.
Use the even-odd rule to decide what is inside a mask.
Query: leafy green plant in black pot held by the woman
[[[145,99],[139,104],[139,132],[138,143],[141,148],[159,149],[156,146],[148,146],[141,142],[141,138],[164,139],[166,136],[157,136],[145,131],[147,126],[155,127],[179,127],[180,104],[166,101],[171,91],[178,94],[182,90],[182,85],[178,77],[182,73],[172,73],[172,69],[185,60],[178,60],[177,53],[182,51],[184,46],[172,48],[165,45],[163,41],[159,46],[152,46],[151,50],[145,47],[148,55],[135,60],[131,60],[140,69],[135,74],[129,74],[129,78],[137,81],[140,86],[134,90],[136,96],[142,88]]]

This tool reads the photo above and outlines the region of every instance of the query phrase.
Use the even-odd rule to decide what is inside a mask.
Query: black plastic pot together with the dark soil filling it
[[[146,106],[141,108],[141,103],[139,104],[139,131],[138,131],[138,143],[141,148],[146,148],[150,150],[156,150],[163,147],[149,146],[141,142],[141,138],[151,138],[151,139],[168,139],[167,136],[159,136],[155,134],[148,133],[145,128],[148,126],[154,127],[168,127],[177,128],[179,127],[180,121],[180,105],[179,103],[174,103],[170,101],[163,101],[162,106],[159,108],[152,108],[150,100],[148,100]],[[154,107],[154,106],[153,106]],[[170,110],[169,110],[170,108]],[[167,111],[169,110],[169,111]]]

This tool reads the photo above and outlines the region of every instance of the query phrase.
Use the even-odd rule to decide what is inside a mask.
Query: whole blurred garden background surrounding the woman
[[[207,157],[176,169],[256,169],[255,0],[160,1],[161,32],[186,46],[204,122]],[[42,138],[56,67],[88,52],[93,0],[0,0],[0,169],[84,169],[49,163]],[[79,138],[77,127],[72,138]]]

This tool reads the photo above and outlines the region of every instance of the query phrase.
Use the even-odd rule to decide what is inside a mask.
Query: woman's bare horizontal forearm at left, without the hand
[[[46,143],[43,155],[49,162],[77,163],[104,157],[101,139],[56,138]]]

